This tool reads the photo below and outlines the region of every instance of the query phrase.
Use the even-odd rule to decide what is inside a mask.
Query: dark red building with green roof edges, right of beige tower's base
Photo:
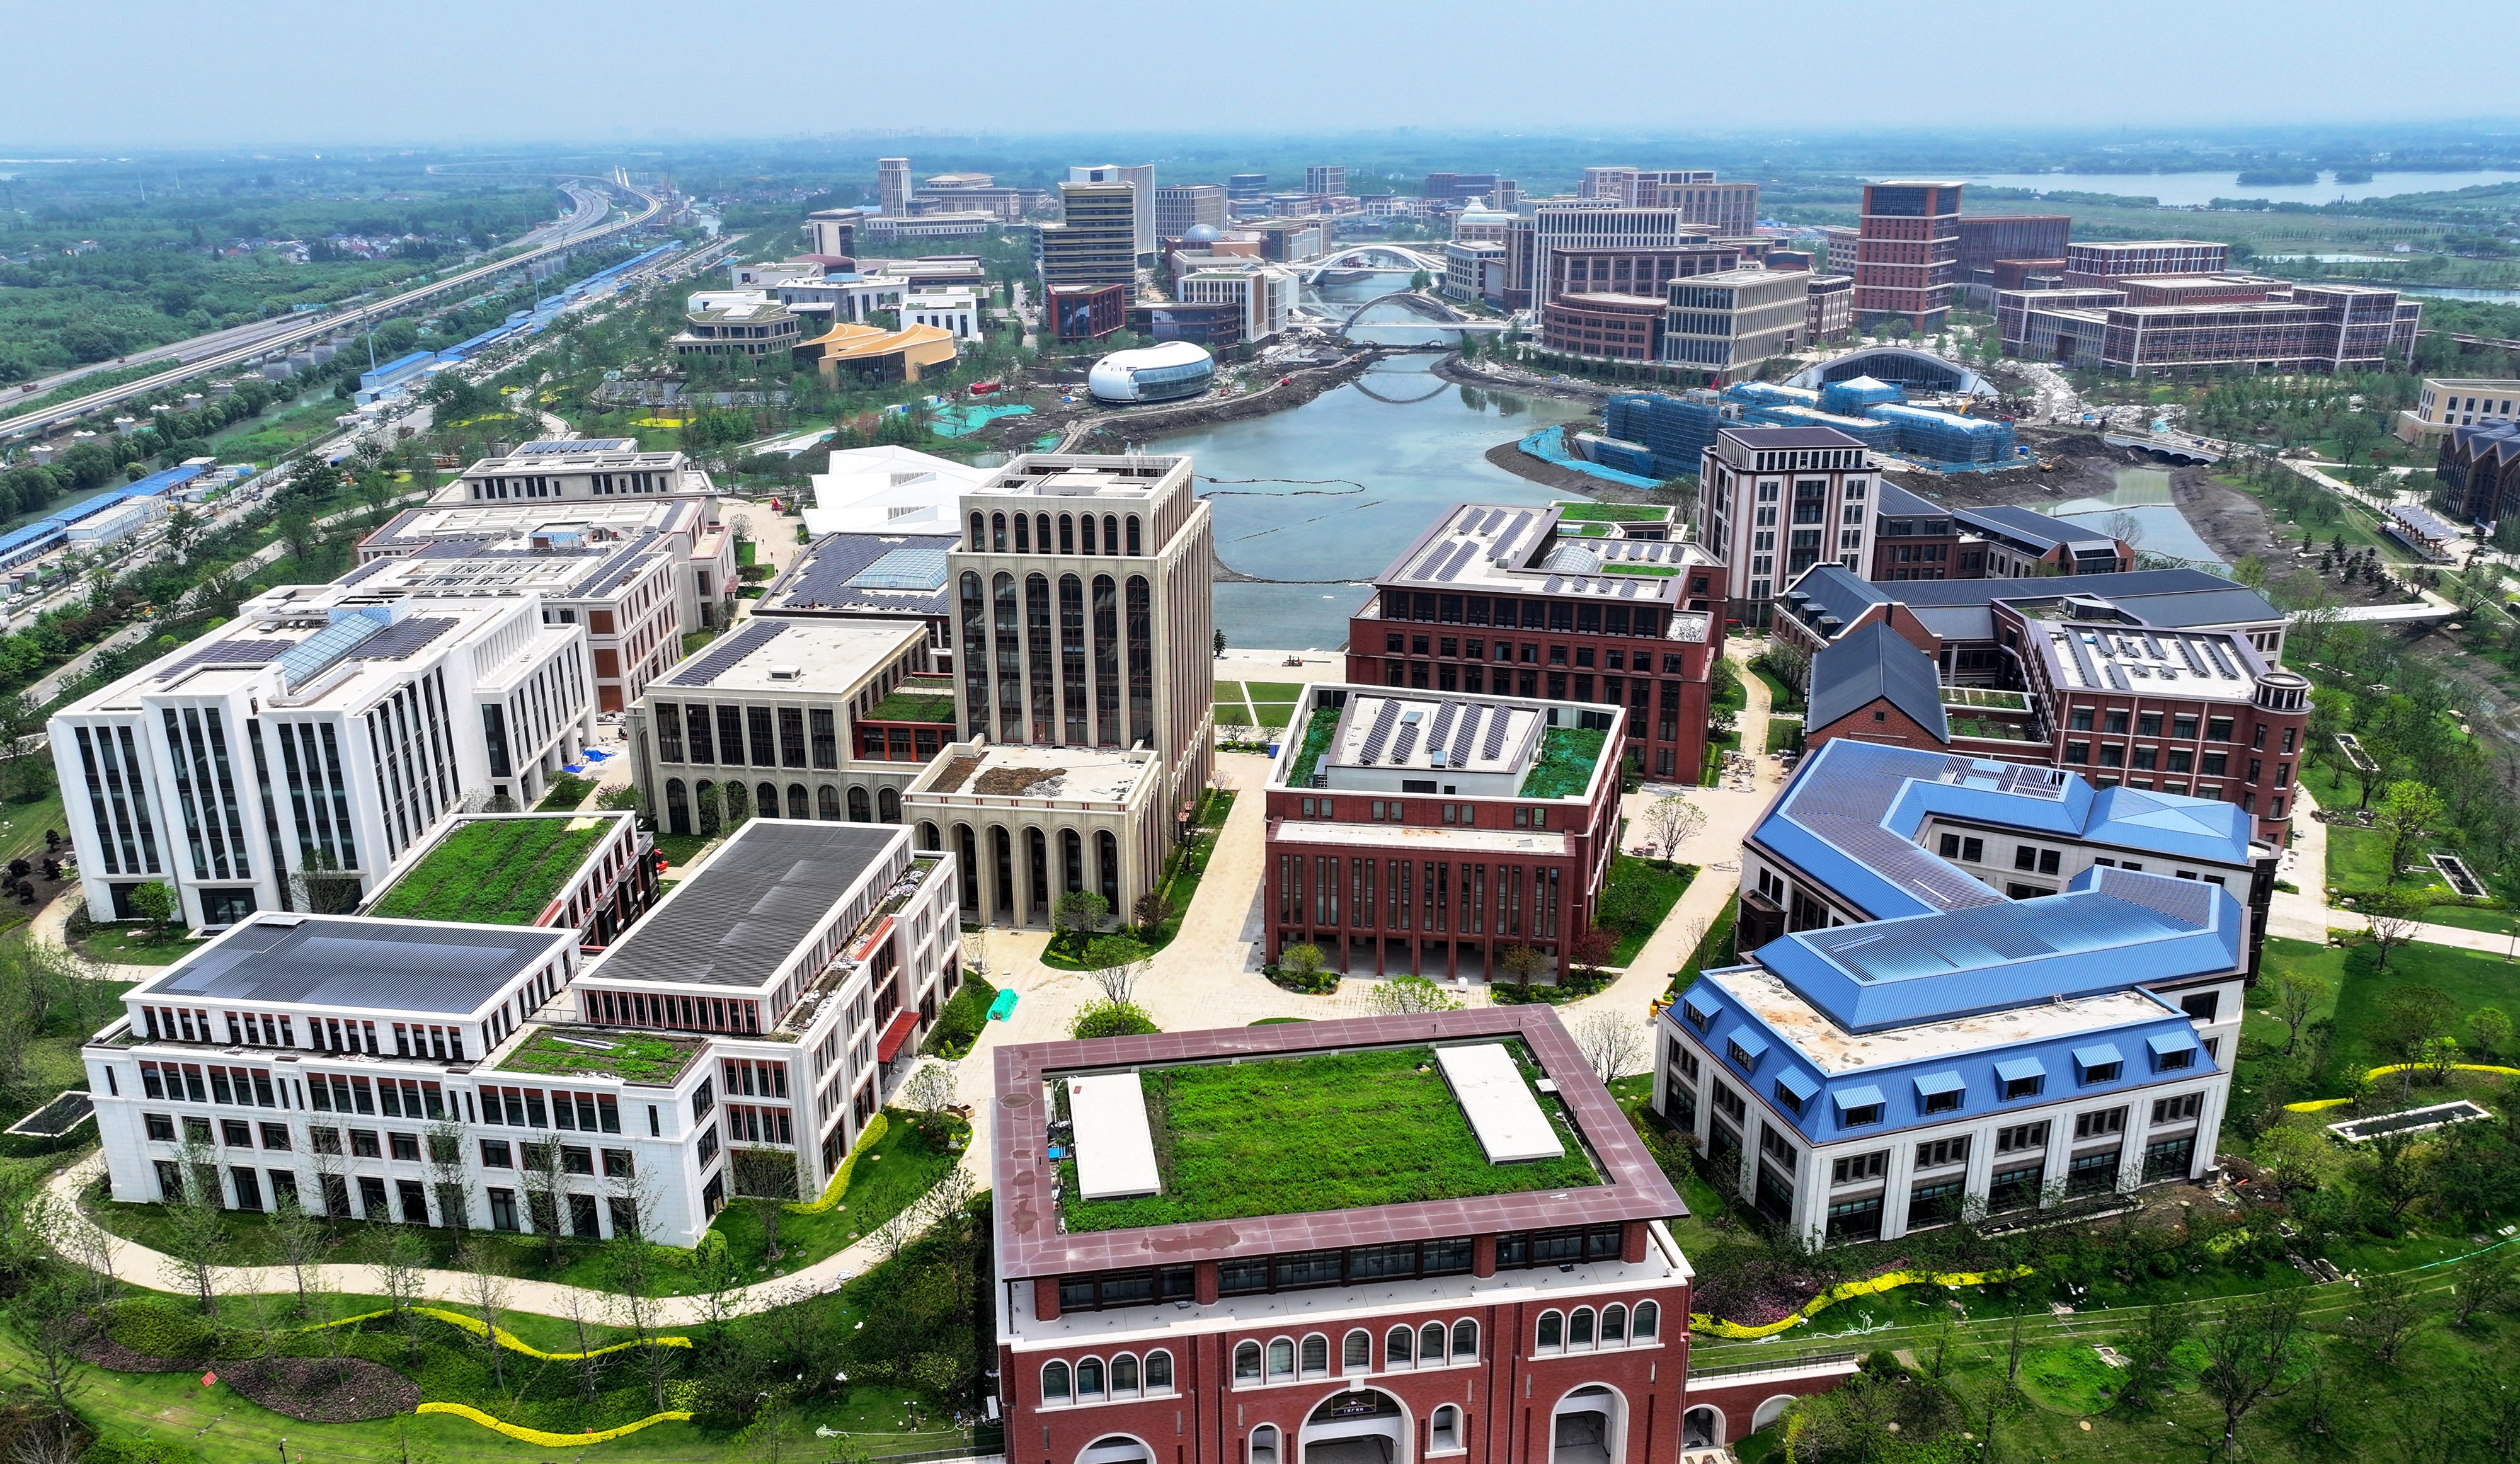
[[[1620,708],[1310,685],[1270,769],[1268,960],[1489,978],[1527,945],[1565,975],[1618,849]]]

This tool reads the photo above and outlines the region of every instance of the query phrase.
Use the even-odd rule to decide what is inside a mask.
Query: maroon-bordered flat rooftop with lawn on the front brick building
[[[1542,1106],[1562,1157],[1487,1162],[1434,1061],[1457,1043],[1515,1048],[1535,1101],[1537,1078],[1557,1084]],[[1121,1071],[1164,1134],[1164,1189],[1061,1212],[1056,1086]],[[1545,1005],[1005,1046],[995,1101],[1008,1278],[1686,1215]]]

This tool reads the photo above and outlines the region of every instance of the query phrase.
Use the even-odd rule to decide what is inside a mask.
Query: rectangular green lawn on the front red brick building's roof
[[[1537,1068],[1507,1043],[1522,1078]],[[1555,1099],[1540,1099],[1567,1152],[1489,1164],[1434,1048],[1320,1053],[1147,1068],[1147,1124],[1164,1189],[1063,1199],[1068,1230],[1134,1230],[1252,1215],[1310,1215],[1472,1194],[1600,1184]],[[1076,1159],[1061,1164],[1076,1194]]]

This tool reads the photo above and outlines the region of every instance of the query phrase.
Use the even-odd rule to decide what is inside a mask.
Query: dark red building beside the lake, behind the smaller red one
[[[1668,514],[1454,504],[1348,620],[1348,680],[1628,711],[1623,758],[1696,784],[1706,678],[1724,655],[1724,564]]]

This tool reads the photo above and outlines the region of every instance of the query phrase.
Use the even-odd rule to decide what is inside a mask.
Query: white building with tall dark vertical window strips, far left
[[[171,884],[189,927],[305,910],[310,869],[375,889],[466,804],[532,804],[595,731],[585,625],[534,597],[292,585],[53,716],[98,920]]]

